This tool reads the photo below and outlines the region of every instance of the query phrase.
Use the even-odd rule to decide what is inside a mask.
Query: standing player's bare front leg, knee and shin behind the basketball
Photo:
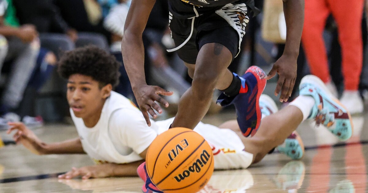
[[[232,81],[221,78],[229,73],[227,67],[232,57],[231,52],[222,44],[208,43],[202,46],[197,57],[192,86],[179,101],[172,127],[194,129],[202,120],[208,111],[217,83],[224,81],[223,85],[228,83],[229,86]]]

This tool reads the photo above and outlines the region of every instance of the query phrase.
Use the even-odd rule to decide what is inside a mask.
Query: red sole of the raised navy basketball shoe
[[[252,68],[252,67],[250,67],[250,68]],[[256,133],[256,131],[259,128],[259,125],[261,125],[262,112],[261,112],[261,108],[259,107],[259,98],[261,97],[261,95],[263,93],[263,90],[265,90],[266,83],[267,83],[267,81],[264,81],[264,83],[260,83],[261,80],[264,79],[264,78],[261,78],[261,75],[258,75],[255,71],[253,71],[250,68],[247,69],[247,71],[245,72],[245,74],[248,73],[248,72],[250,72],[257,79],[258,93],[257,93],[257,96],[256,96],[256,101],[255,101],[255,103],[256,103],[257,124],[255,126],[255,129],[248,129],[247,132],[243,133],[243,135],[245,137],[248,137],[249,135],[254,136],[255,133]],[[263,71],[258,66],[253,66],[253,68],[259,69],[262,72],[263,77],[266,76],[265,71]]]

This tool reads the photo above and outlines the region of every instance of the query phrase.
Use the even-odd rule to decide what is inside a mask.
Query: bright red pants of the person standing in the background
[[[332,13],[337,23],[342,49],[345,90],[358,90],[363,62],[363,6],[364,0],[305,0],[302,44],[311,72],[325,83],[330,81],[322,32],[326,18]]]

